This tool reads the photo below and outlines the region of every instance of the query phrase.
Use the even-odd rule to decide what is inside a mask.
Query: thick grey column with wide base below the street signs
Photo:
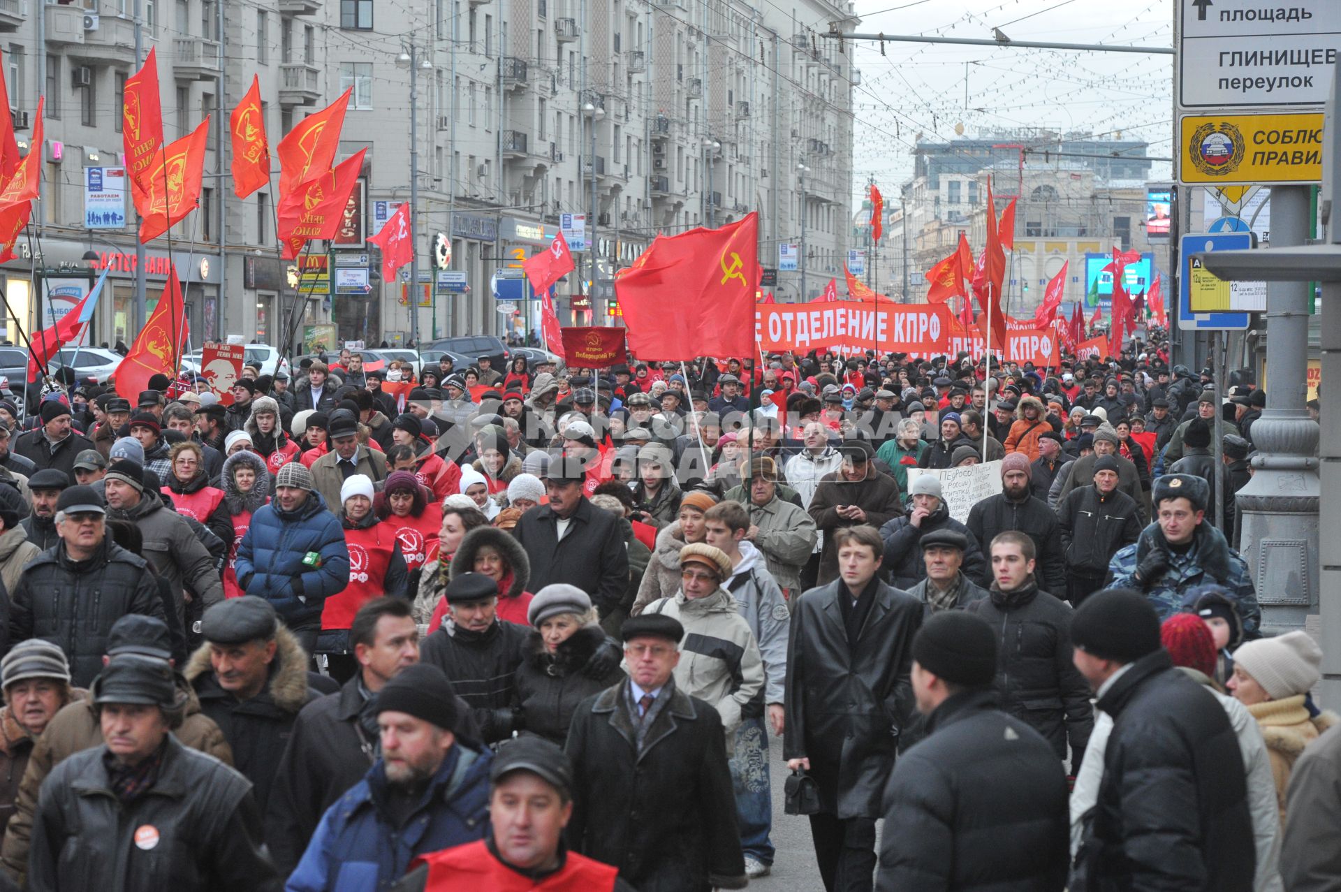
[[[1307,186],[1271,189],[1273,248],[1302,245],[1307,221]],[[1238,504],[1243,510],[1240,553],[1248,562],[1262,604],[1265,632],[1299,628],[1317,632],[1321,479],[1316,456],[1320,428],[1309,419],[1303,405],[1309,342],[1307,283],[1269,283],[1266,317],[1266,409],[1252,424],[1252,443],[1258,451],[1252,459],[1252,480],[1238,494]],[[1333,343],[1341,349],[1341,331]],[[1334,380],[1341,380],[1341,376]],[[1332,439],[1332,444],[1341,459],[1341,443]],[[1333,511],[1341,507],[1336,498],[1332,503]],[[1341,530],[1341,526],[1330,528]],[[1336,653],[1341,656],[1341,648]]]

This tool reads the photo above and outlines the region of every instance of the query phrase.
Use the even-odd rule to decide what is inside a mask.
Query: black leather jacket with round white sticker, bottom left
[[[34,892],[282,888],[247,778],[168,735],[158,779],[130,805],[111,791],[106,746],[47,775],[32,824]],[[157,845],[137,845],[157,829]]]

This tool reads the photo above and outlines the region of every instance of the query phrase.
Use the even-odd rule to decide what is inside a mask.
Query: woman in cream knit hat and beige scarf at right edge
[[[1234,652],[1234,676],[1227,687],[1262,728],[1282,821],[1295,759],[1337,722],[1334,712],[1318,712],[1307,696],[1322,679],[1321,665],[1322,649],[1307,632],[1248,641]]]

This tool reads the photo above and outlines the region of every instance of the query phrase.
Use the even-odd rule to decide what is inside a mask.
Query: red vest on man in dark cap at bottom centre
[[[539,883],[499,861],[484,841],[425,854],[410,862],[413,871],[428,865],[424,892],[488,889],[488,892],[613,892],[620,876],[616,868],[569,852],[563,869]]]

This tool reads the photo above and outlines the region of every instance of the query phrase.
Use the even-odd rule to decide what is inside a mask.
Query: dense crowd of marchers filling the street
[[[760,359],[0,400],[0,888],[1341,883],[1250,376]]]

